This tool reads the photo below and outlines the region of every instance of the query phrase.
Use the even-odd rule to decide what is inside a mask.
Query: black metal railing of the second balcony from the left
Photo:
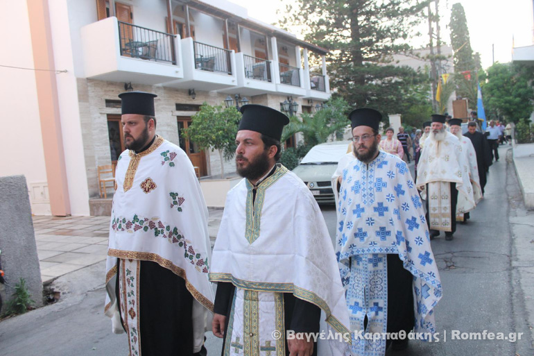
[[[232,51],[196,41],[193,41],[193,49],[196,69],[232,75]]]

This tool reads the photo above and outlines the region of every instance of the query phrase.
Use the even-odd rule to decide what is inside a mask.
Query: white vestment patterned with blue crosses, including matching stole
[[[442,296],[436,259],[419,193],[406,163],[380,151],[365,164],[352,160],[339,192],[336,255],[352,331],[387,330],[387,254],[413,275],[415,332],[434,334],[433,308]],[[352,355],[384,356],[386,339],[355,339]]]

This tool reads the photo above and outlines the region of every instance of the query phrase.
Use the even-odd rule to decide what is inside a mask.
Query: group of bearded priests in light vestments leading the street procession
[[[332,178],[332,246],[313,195],[277,163],[288,118],[243,105],[243,180],[227,194],[212,252],[193,165],[156,134],[155,94],[119,97],[127,150],[115,174],[105,314],[130,355],[207,355],[206,331],[223,338],[222,355],[383,356],[408,347],[411,331],[432,339],[442,285],[431,239],[452,239],[456,215],[482,197],[459,123],[449,133],[433,115],[414,180],[379,150],[379,112],[352,111],[352,152]]]

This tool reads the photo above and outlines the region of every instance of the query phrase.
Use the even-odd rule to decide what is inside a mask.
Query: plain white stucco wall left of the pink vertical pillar
[[[0,21],[0,33],[17,34],[2,36],[3,49],[9,51],[0,51],[0,63],[33,68],[26,1],[0,1],[0,13],[9,14]],[[0,176],[22,174],[28,188],[46,187],[35,71],[0,67],[0,78],[0,124],[5,129],[0,139]],[[33,196],[31,203],[34,214],[50,214],[49,203],[36,204]]]

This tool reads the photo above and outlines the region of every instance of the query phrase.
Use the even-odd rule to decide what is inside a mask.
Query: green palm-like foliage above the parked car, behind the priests
[[[343,98],[329,99],[326,107],[313,115],[303,112],[300,119],[290,117],[289,124],[282,131],[282,142],[296,133],[304,135],[306,146],[315,146],[326,142],[330,135],[343,137],[344,128],[350,124],[347,119],[349,105]]]

